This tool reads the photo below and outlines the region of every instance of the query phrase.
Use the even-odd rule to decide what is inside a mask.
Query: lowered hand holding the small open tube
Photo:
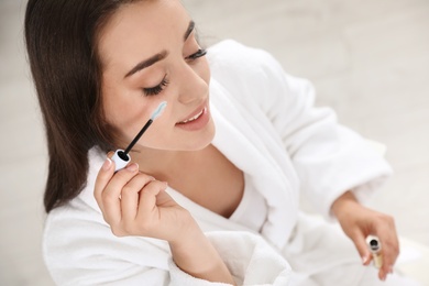
[[[372,255],[366,244],[367,235],[378,237],[383,255],[383,266],[378,277],[386,279],[399,255],[399,242],[395,222],[391,216],[363,207],[351,191],[344,193],[332,204],[332,212],[337,217],[344,233],[354,242],[364,265],[369,265]]]

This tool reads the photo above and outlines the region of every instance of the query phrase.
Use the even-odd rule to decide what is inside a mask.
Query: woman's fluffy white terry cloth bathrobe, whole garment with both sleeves
[[[389,166],[330,109],[314,108],[311,85],[286,75],[267,53],[226,41],[209,48],[208,59],[212,144],[263,196],[266,220],[257,233],[167,191],[190,211],[238,285],[376,285],[360,284],[365,267],[353,245],[334,227],[300,215],[298,205],[302,193],[330,218],[337,197],[351,189],[363,200]],[[58,285],[223,285],[182,272],[165,241],[114,237],[94,198],[106,154],[94,147],[88,157],[85,189],[45,224],[44,257]],[[345,257],[342,244],[351,250]]]

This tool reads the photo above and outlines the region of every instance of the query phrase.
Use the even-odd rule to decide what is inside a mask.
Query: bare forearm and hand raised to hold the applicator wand
[[[136,164],[114,173],[113,163],[107,160],[96,180],[95,197],[117,237],[165,240],[184,272],[209,282],[234,284],[196,221],[165,188],[165,183],[140,173]]]

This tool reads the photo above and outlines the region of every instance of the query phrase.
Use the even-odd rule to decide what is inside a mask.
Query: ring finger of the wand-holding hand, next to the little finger
[[[123,187],[121,193],[122,220],[135,219],[139,208],[139,193],[154,179],[152,176],[139,173]]]

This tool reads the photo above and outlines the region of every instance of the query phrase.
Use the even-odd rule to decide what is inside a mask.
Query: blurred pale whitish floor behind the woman
[[[234,38],[310,79],[319,106],[387,146],[370,205],[429,245],[428,0],[183,0],[207,45]],[[44,130],[23,46],[26,1],[0,0],[0,285],[53,285],[41,253]]]

